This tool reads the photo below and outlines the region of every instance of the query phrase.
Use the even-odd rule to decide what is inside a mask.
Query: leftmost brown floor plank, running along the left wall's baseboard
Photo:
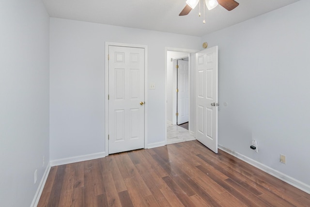
[[[46,181],[46,184],[43,188],[43,191],[42,191],[42,194],[41,194],[41,197],[39,199],[37,207],[46,207],[47,206],[49,195],[50,195],[50,192],[52,191],[54,179],[56,176],[57,168],[58,168],[58,166],[54,166],[54,167],[51,167],[51,169],[49,170],[49,173],[47,176],[47,181]]]

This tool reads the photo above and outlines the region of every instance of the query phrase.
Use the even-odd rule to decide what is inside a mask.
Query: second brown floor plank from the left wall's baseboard
[[[60,165],[57,168],[53,187],[50,192],[49,199],[48,199],[47,207],[59,206],[59,201],[60,201],[60,197],[62,194],[62,184],[63,184],[63,177],[64,177],[65,169],[66,169],[66,165]]]

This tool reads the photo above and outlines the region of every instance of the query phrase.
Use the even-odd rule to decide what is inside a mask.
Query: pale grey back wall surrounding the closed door
[[[148,46],[148,146],[164,144],[165,47],[201,37],[50,18],[51,160],[105,151],[105,42]]]

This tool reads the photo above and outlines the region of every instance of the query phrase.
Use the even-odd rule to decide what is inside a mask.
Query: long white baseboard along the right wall
[[[266,172],[272,176],[275,176],[275,177],[279,178],[280,180],[282,180],[282,181],[284,181],[284,182],[286,182],[286,183],[288,183],[288,184],[310,194],[310,185],[303,183],[303,182],[301,182],[301,181],[299,181],[299,180],[297,180],[297,179],[295,179],[289,175],[283,174],[283,173],[279,172],[278,170],[275,170],[271,167],[268,167],[267,165],[264,165],[261,162],[258,162],[254,159],[251,159],[251,158],[248,158],[247,156],[244,156],[244,155],[242,155],[238,152],[235,152],[229,148],[226,148],[220,144],[218,144],[218,148],[223,150],[224,152],[227,152],[228,154],[233,155],[234,157],[241,159],[241,160],[247,162],[248,164],[250,164],[250,165],[252,165],[252,166],[254,166],[254,167],[256,167],[256,168],[258,168],[258,169],[260,169],[260,170],[262,170],[262,171],[264,171],[264,172]]]

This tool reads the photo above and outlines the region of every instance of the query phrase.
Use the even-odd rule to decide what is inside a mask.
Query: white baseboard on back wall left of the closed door
[[[51,166],[64,165],[64,164],[70,164],[74,162],[80,162],[80,161],[86,161],[86,160],[98,159],[98,158],[104,158],[104,157],[106,157],[105,152],[98,152],[98,153],[93,153],[89,155],[82,155],[82,156],[75,156],[75,157],[70,157],[70,158],[51,160],[50,165]]]

